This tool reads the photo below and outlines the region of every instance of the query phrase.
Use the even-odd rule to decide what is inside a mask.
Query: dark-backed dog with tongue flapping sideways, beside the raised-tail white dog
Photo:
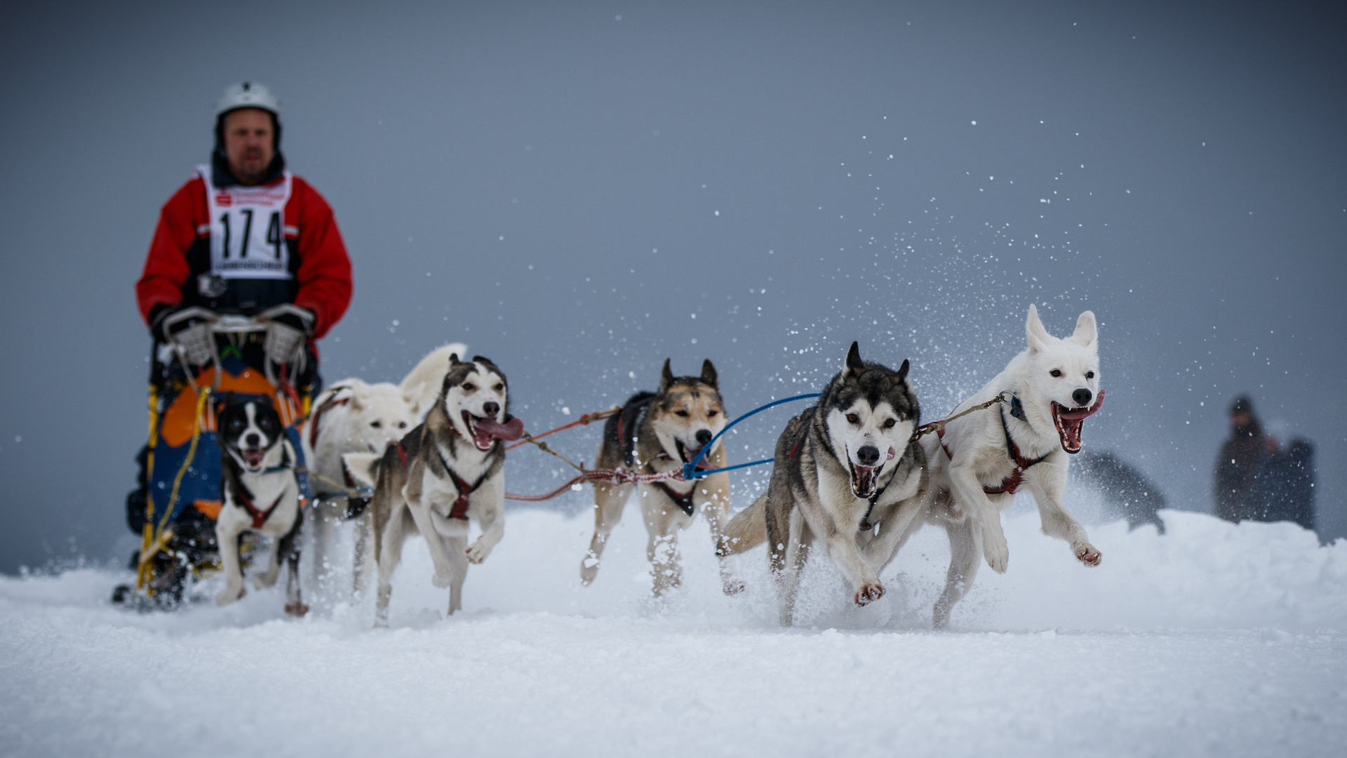
[[[449,588],[449,612],[463,607],[467,565],[480,564],[505,534],[505,446],[524,424],[509,414],[505,375],[490,360],[449,371],[426,421],[383,453],[348,453],[346,468],[374,487],[374,564],[379,566],[376,622],[388,623],[393,571],[403,542],[419,531],[435,564],[435,587]],[[467,544],[469,519],[482,534]]]

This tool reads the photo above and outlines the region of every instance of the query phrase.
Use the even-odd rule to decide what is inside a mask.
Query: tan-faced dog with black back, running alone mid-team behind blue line
[[[696,459],[702,448],[725,429],[725,402],[721,399],[715,367],[702,363],[700,376],[674,376],[664,361],[657,392],[637,392],[609,417],[598,448],[598,468],[626,468],[641,473],[679,471]],[[725,445],[715,446],[698,463],[700,469],[725,465]],[[594,537],[581,561],[581,581],[589,585],[598,576],[603,546],[622,519],[622,508],[633,491],[640,492],[641,518],[649,541],[645,548],[655,576],[655,595],[663,595],[683,580],[679,566],[678,533],[692,523],[698,508],[711,525],[717,544],[729,521],[730,479],[725,472],[694,482],[653,482],[641,484],[594,483]],[[742,585],[721,557],[721,581],[727,595]]]

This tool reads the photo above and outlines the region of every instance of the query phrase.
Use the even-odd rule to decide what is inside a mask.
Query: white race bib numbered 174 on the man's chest
[[[224,279],[290,279],[286,202],[290,171],[264,187],[216,187],[210,167],[198,166],[210,212],[210,272]]]

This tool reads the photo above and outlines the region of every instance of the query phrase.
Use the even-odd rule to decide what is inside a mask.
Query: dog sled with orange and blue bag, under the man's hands
[[[189,577],[218,569],[214,523],[220,515],[221,449],[216,440],[216,405],[226,395],[265,398],[280,414],[300,460],[300,504],[313,490],[304,473],[299,426],[317,390],[317,361],[303,332],[275,322],[299,313],[280,305],[255,317],[217,314],[202,308],[170,317],[158,345],[150,383],[150,441],[143,455],[141,544],[135,557],[135,587],[119,587],[113,600],[137,607],[171,608],[183,599]],[[189,324],[174,332],[174,326]],[[128,502],[128,521],[137,522]],[[256,545],[245,544],[247,557]]]

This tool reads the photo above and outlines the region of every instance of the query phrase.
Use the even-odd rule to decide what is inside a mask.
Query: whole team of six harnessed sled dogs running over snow
[[[356,591],[365,588],[372,568],[376,623],[387,623],[393,572],[408,537],[424,537],[434,584],[449,588],[453,614],[462,608],[469,565],[485,561],[504,535],[505,442],[523,437],[524,426],[509,414],[505,374],[485,357],[463,355],[458,344],[439,348],[400,386],[338,382],[317,398],[303,430],[318,491],[318,573],[334,560],[333,525],[356,519]],[[691,482],[594,483],[594,535],[581,561],[582,584],[597,577],[603,548],[633,494],[656,595],[682,581],[678,534],[700,510],[726,593],[744,589],[726,558],[766,544],[783,624],[793,620],[812,548],[822,548],[850,583],[851,600],[866,606],[884,596],[880,575],[908,537],[936,525],[948,534],[951,560],[932,618],[936,629],[947,627],[983,558],[993,571],[1006,571],[1001,511],[1021,490],[1033,495],[1045,534],[1067,541],[1084,565],[1099,565],[1099,550],[1063,503],[1068,456],[1080,450],[1084,419],[1103,402],[1094,313],[1082,313],[1075,332],[1057,339],[1030,305],[1025,349],[929,434],[917,434],[921,411],[908,374],[907,360],[897,370],[867,361],[853,343],[815,405],[777,437],[766,491],[734,518],[726,472]],[[989,407],[952,418],[978,405]],[[253,530],[277,538],[256,584],[275,583],[284,558],[286,610],[303,614],[299,488],[287,463],[294,450],[273,415],[257,401],[226,398],[218,410],[225,504],[217,535],[226,584],[217,602],[242,596],[237,548],[240,535]],[[676,472],[726,424],[711,361],[703,361],[698,376],[675,376],[665,360],[659,388],[633,395],[607,418],[597,468]],[[698,461],[699,469],[723,465],[719,441]],[[349,495],[357,487],[372,487],[373,495]],[[481,534],[469,544],[470,522]]]

